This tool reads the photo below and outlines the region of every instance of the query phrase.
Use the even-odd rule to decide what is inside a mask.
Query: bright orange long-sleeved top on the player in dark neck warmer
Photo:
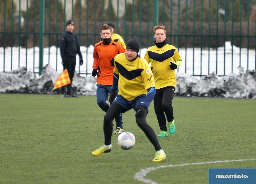
[[[109,45],[103,45],[100,41],[93,49],[93,69],[98,70],[97,84],[112,85],[114,66],[110,60],[117,54],[125,52],[123,45],[112,40]]]

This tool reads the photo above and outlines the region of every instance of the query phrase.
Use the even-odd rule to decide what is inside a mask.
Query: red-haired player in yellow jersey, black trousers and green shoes
[[[172,99],[176,87],[175,69],[181,65],[182,60],[177,49],[166,43],[166,30],[163,25],[154,27],[154,38],[155,45],[148,48],[144,58],[151,63],[156,83],[154,109],[161,130],[158,137],[166,137],[166,118],[169,133],[175,132]]]

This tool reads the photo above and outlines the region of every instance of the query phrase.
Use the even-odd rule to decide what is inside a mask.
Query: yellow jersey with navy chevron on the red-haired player
[[[176,47],[166,44],[162,48],[158,48],[154,45],[147,49],[144,58],[148,63],[151,63],[151,67],[153,67],[152,72],[155,78],[156,89],[166,86],[176,87],[175,70],[169,67],[170,62],[182,62]],[[181,63],[177,63],[177,67],[180,65]]]

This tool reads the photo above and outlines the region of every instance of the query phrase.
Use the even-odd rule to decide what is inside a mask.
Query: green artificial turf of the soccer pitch
[[[123,114],[124,131],[136,137],[131,150],[117,145],[111,154],[93,156],[104,143],[103,112],[96,96],[0,94],[0,183],[145,183],[136,173],[157,166],[142,180],[155,183],[208,183],[208,168],[255,168],[255,107],[252,99],[174,97],[176,131],[158,138],[166,153],[152,162],[155,150],[135,122]],[[153,103],[147,122],[160,132]],[[187,163],[188,165],[182,165]]]

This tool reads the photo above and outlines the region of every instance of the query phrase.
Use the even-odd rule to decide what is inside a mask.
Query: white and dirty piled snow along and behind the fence
[[[226,42],[225,49],[220,47],[202,50],[187,48],[187,51],[179,48],[178,50],[183,63],[176,71],[176,96],[256,99],[255,50],[232,47],[230,42]],[[145,51],[146,48],[142,48],[139,54],[144,56]],[[81,46],[81,52],[84,65],[76,66],[72,87],[77,95],[96,95],[96,77],[90,75],[93,64],[93,46],[90,45],[88,48]],[[62,72],[59,48],[56,49],[55,46],[44,48],[44,68],[41,76],[33,73],[38,72],[38,55],[39,48],[26,50],[25,48],[3,49],[1,47],[0,58],[4,60],[0,60],[0,92],[59,94],[59,89],[52,90],[57,77]],[[218,58],[218,63],[216,63],[216,58]],[[11,60],[13,63],[10,62]],[[208,60],[210,60],[209,63]],[[192,76],[193,68],[194,75],[206,76]],[[78,71],[88,73],[88,75],[78,75]],[[226,76],[218,77],[218,75],[224,75],[224,71]]]

